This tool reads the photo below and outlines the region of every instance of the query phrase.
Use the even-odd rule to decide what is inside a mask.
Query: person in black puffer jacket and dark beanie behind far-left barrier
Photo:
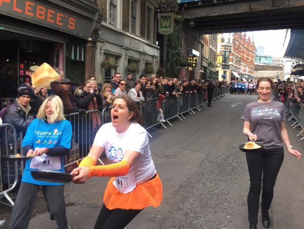
[[[18,88],[17,99],[15,99],[14,103],[7,108],[2,117],[3,123],[12,124],[16,129],[17,135],[22,133],[23,137],[26,134],[28,125],[34,119],[34,116],[29,114],[31,110],[31,107],[29,106],[31,96],[32,92],[28,88]],[[1,133],[1,154],[3,155],[14,154],[12,134],[13,130],[10,127],[3,129]],[[17,148],[17,152],[20,153],[19,148]],[[15,162],[2,159],[1,174],[3,184],[13,184],[15,180]],[[19,182],[20,180],[21,177],[19,177]]]

